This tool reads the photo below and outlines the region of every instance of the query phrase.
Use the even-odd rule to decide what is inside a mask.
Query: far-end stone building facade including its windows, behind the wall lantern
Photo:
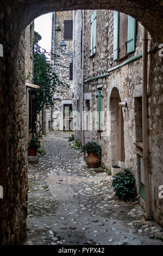
[[[52,58],[53,71],[59,80],[67,84],[66,87],[56,88],[53,106],[53,130],[72,130],[72,66],[73,66],[73,16],[72,11],[56,11],[52,15],[52,48],[57,54]],[[65,47],[61,47],[63,42]],[[71,124],[70,124],[71,122]],[[71,126],[71,127],[70,127]]]

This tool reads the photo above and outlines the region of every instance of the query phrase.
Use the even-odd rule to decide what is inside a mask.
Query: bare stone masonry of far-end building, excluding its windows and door
[[[58,92],[54,93],[53,107],[53,130],[64,129],[64,104],[72,105],[72,80],[70,80],[70,63],[73,63],[73,40],[65,39],[65,21],[73,20],[72,11],[56,11],[52,17],[52,48],[51,51],[58,54],[54,61],[54,72],[61,82],[66,83],[66,87],[60,86]],[[55,36],[54,36],[55,29]],[[66,50],[62,54],[60,43],[64,40]],[[67,88],[67,86],[69,88]]]

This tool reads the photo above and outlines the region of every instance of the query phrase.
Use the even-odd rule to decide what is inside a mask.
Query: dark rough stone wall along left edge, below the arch
[[[0,184],[3,199],[0,199],[0,243],[17,245],[26,236],[27,216],[27,113],[25,74],[26,32],[23,32],[16,48],[1,58],[1,70],[5,72],[1,87],[0,122]],[[11,58],[12,65],[5,65]],[[2,119],[3,117],[3,119]],[[7,117],[7,118],[4,118]]]

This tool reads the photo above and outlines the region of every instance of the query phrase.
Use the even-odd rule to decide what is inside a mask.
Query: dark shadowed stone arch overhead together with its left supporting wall
[[[0,11],[0,243],[18,244],[26,234],[27,215],[27,148],[26,93],[24,75],[23,29],[41,14],[53,10],[111,9],[133,16],[156,41],[163,39],[162,1],[153,0],[2,0]],[[21,44],[19,44],[21,42]],[[156,55],[153,63],[157,62]],[[161,66],[161,63],[160,63]],[[158,74],[160,72],[158,67]],[[154,72],[154,64],[152,66]],[[156,74],[156,73],[155,73]],[[154,79],[154,78],[152,78]],[[152,80],[151,80],[152,83]]]

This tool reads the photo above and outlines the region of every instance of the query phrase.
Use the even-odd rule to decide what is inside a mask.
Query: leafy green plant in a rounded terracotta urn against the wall
[[[90,168],[97,168],[101,163],[101,146],[96,142],[88,142],[82,147],[82,151],[87,153],[86,163]]]

